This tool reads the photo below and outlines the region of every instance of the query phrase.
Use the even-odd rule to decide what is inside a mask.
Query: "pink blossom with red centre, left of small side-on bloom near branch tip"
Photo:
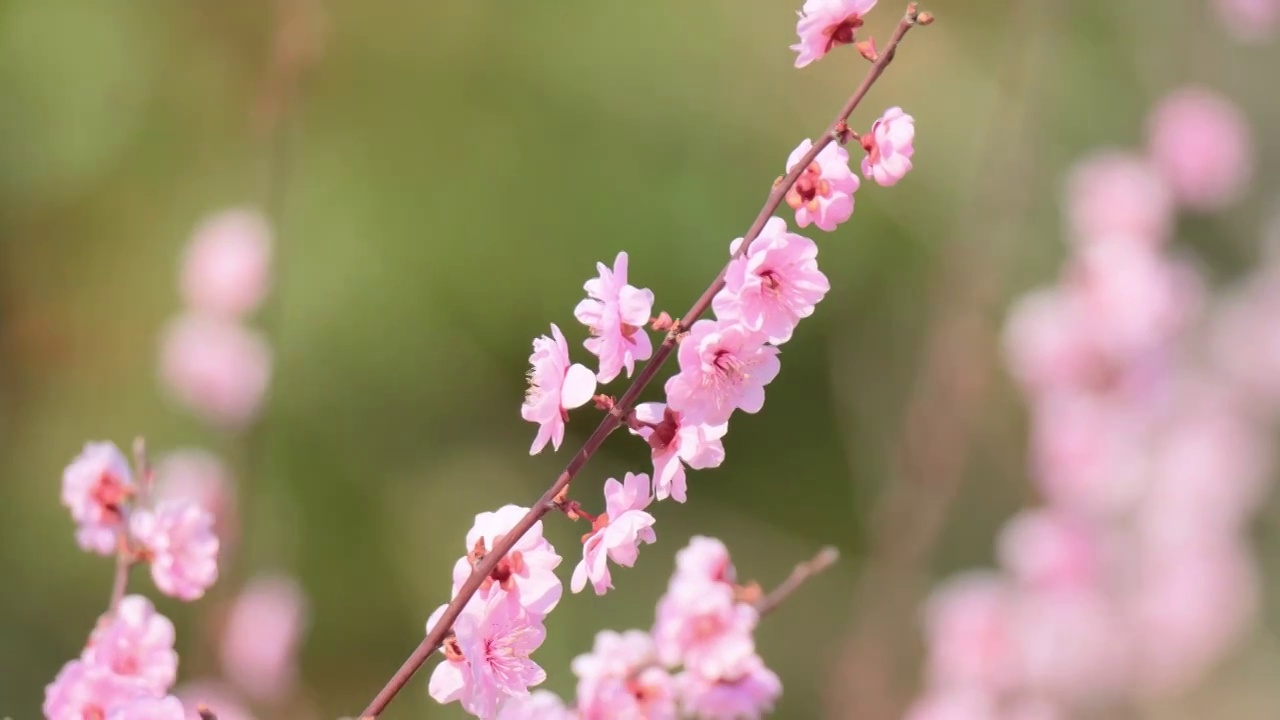
[[[812,149],[813,142],[805,138],[792,150],[787,158],[787,172]],[[813,223],[832,232],[854,214],[854,192],[859,184],[858,176],[849,169],[849,151],[840,145],[828,143],[800,173],[787,192],[787,205],[796,211],[796,224],[801,228]]]

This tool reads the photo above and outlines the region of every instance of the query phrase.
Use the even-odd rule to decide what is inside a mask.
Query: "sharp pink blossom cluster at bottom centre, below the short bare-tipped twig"
[[[755,653],[756,611],[741,600],[724,544],[695,537],[676,556],[653,630],[603,630],[573,659],[572,708],[545,691],[518,696],[499,720],[740,720],[760,717],[782,684]]]

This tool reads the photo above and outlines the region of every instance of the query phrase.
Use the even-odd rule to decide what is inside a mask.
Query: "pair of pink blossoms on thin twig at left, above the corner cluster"
[[[90,552],[148,562],[161,592],[196,600],[218,579],[214,518],[191,501],[140,503],[148,484],[134,482],[115,445],[86,445],[63,473],[63,503],[78,525],[76,538]]]

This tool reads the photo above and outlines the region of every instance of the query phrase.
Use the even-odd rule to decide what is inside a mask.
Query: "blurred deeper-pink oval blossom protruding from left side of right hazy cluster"
[[[1073,591],[1102,577],[1101,529],[1055,509],[1027,510],[1000,530],[1000,561],[1030,588]]]

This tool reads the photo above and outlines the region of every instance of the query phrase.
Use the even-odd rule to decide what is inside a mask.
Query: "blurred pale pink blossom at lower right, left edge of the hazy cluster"
[[[933,589],[924,607],[932,687],[1001,692],[1019,679],[1012,594],[992,573],[965,573]]]

